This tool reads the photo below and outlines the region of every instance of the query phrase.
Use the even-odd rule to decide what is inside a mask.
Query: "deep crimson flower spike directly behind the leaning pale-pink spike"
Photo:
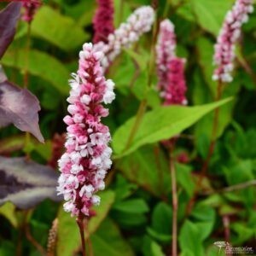
[[[100,41],[108,43],[108,35],[113,33],[113,2],[112,0],[97,0],[98,9],[93,19],[93,43]]]

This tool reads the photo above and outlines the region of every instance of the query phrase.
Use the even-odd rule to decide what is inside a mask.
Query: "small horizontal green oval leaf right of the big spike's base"
[[[113,210],[129,213],[145,213],[149,211],[149,208],[143,199],[129,199],[116,202],[113,205]]]

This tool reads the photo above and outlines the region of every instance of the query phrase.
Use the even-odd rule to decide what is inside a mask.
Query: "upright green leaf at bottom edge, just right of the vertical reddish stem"
[[[178,237],[179,245],[183,255],[203,256],[203,247],[200,237],[200,230],[196,224],[186,220],[181,228]]]

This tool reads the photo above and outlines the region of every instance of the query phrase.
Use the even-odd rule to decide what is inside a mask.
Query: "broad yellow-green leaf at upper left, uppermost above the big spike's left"
[[[81,47],[89,39],[89,35],[72,18],[46,5],[38,9],[35,15],[32,35],[66,51]]]

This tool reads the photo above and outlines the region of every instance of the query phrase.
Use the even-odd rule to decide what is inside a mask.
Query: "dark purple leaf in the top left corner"
[[[21,3],[9,3],[0,12],[0,59],[13,41],[16,31],[16,23],[20,18]]]

